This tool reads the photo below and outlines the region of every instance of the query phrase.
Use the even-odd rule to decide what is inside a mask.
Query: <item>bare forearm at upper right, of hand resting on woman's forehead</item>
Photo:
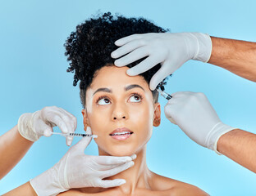
[[[256,42],[211,38],[213,50],[208,63],[256,82]]]

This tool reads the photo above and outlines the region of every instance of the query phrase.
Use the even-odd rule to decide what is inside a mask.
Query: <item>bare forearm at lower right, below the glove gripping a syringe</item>
[[[256,135],[240,129],[229,131],[217,142],[217,151],[256,172]]]

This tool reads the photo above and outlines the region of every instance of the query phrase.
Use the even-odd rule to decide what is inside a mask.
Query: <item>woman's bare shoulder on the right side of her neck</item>
[[[208,195],[197,186],[167,178],[165,176],[160,176],[156,173],[153,173],[151,179],[151,189],[165,192],[167,191],[169,193],[168,195]]]

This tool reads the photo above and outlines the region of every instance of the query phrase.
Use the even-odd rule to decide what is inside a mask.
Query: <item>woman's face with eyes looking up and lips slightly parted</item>
[[[153,126],[160,124],[160,105],[153,103],[148,82],[141,76],[128,76],[127,69],[99,69],[86,91],[84,125],[98,135],[94,140],[99,154],[138,153],[149,141]]]

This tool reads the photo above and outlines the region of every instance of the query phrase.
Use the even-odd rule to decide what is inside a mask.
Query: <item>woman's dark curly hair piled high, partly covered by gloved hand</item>
[[[85,20],[84,23],[76,26],[76,31],[72,32],[66,39],[65,56],[70,61],[67,72],[74,73],[73,85],[76,86],[80,80],[80,100],[85,107],[85,93],[91,85],[95,73],[103,66],[112,66],[114,60],[111,57],[112,51],[117,49],[114,44],[119,38],[126,37],[134,33],[164,33],[167,30],[153,25],[144,18],[126,18],[124,16],[112,16],[110,12],[104,13]],[[143,60],[143,59],[142,59]],[[127,65],[133,67],[141,60]],[[142,77],[149,83],[153,74],[160,69],[158,64],[147,72],[141,73]],[[162,82],[164,83],[164,82]],[[158,91],[152,91],[154,102],[158,102]]]

